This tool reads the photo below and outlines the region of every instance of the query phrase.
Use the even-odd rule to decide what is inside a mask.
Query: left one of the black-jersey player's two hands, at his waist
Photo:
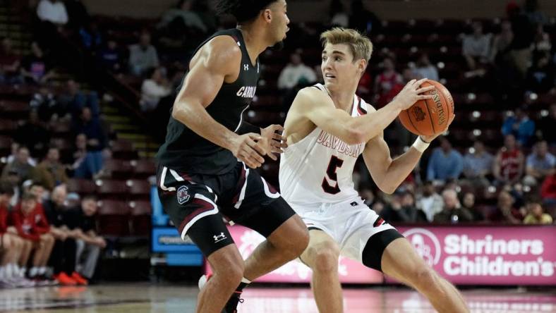
[[[267,154],[260,143],[261,139],[262,137],[255,133],[238,135],[231,142],[231,153],[250,168],[258,168],[265,163],[262,156]]]

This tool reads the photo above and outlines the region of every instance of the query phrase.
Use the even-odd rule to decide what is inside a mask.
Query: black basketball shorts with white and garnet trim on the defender
[[[181,238],[191,238],[205,257],[234,243],[226,221],[268,237],[295,214],[265,178],[241,162],[218,176],[189,175],[160,165],[157,185],[162,207]]]

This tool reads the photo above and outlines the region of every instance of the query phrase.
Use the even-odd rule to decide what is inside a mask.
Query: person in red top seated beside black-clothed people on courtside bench
[[[47,262],[54,246],[54,236],[49,233],[50,226],[44,216],[42,205],[37,203],[37,197],[30,192],[25,192],[21,202],[12,212],[13,226],[18,235],[25,240],[30,240],[35,253],[32,258],[32,268],[28,276],[39,284],[51,284],[47,277]],[[27,264],[27,262],[23,262]],[[24,265],[25,270],[25,265]]]

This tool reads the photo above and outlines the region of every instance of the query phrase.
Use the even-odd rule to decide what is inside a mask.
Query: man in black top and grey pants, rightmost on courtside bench
[[[97,235],[95,229],[95,214],[97,214],[97,198],[86,196],[80,206],[68,211],[67,226],[75,231],[77,243],[77,272],[90,280],[95,274],[97,260],[102,248],[107,243]]]

